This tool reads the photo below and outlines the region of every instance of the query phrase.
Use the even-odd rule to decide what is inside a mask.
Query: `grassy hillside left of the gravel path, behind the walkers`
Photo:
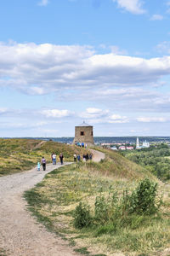
[[[82,154],[82,148],[80,149]],[[75,146],[34,139],[0,139],[0,176],[31,169],[44,156],[51,162],[51,154],[62,152],[65,161],[72,161],[79,151]]]

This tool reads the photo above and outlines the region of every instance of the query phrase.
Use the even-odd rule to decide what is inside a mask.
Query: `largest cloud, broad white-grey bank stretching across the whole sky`
[[[31,95],[150,86],[170,74],[170,56],[144,59],[98,55],[89,46],[16,43],[0,44],[0,52],[0,86]]]

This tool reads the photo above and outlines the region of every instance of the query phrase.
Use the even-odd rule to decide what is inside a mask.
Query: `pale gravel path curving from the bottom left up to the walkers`
[[[70,164],[70,163],[66,163]],[[65,164],[65,165],[66,165]],[[60,164],[47,165],[47,171],[28,172],[0,177],[0,248],[8,256],[71,256],[77,255],[66,241],[48,232],[26,210],[23,192],[39,183]]]

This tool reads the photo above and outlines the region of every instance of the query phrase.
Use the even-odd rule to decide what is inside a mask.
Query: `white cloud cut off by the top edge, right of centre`
[[[143,2],[140,0],[113,0],[119,8],[125,9],[134,15],[142,15],[145,10],[142,8]]]

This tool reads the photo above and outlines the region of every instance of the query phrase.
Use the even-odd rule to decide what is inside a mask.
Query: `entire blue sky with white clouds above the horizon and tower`
[[[170,136],[170,1],[0,1],[0,137]]]

